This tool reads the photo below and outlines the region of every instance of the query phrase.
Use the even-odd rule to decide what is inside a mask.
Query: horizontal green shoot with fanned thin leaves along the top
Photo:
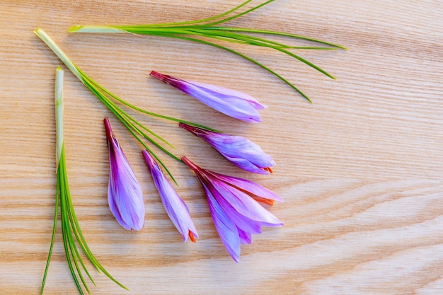
[[[244,59],[247,59],[249,62],[260,66],[261,68],[269,71],[271,74],[276,76],[278,79],[282,80],[284,83],[287,83],[290,87],[292,87],[295,91],[297,91],[301,96],[306,98],[309,102],[311,100],[302,93],[299,88],[294,86],[293,83],[289,82],[287,79],[284,79],[280,74],[277,74],[275,71],[270,70],[267,66],[261,64],[260,62],[248,57],[246,54],[242,54],[237,52],[236,50],[231,50],[229,47],[216,44],[214,42],[209,42],[207,39],[220,40],[226,42],[233,42],[242,45],[252,45],[252,46],[260,46],[267,47],[272,50],[277,50],[283,54],[288,55],[294,59],[299,60],[311,68],[316,69],[317,71],[325,74],[331,79],[335,79],[333,75],[329,74],[327,71],[321,69],[321,67],[316,66],[312,62],[309,62],[307,59],[304,59],[299,54],[294,54],[293,52],[289,52],[289,50],[347,50],[346,47],[342,45],[337,45],[332,42],[327,42],[323,40],[318,40],[312,37],[306,37],[302,35],[296,35],[291,33],[284,33],[272,30],[258,30],[253,28],[234,28],[227,26],[220,26],[221,23],[226,23],[228,21],[232,21],[236,18],[246,15],[247,13],[251,13],[252,11],[257,10],[260,7],[263,7],[267,4],[275,0],[267,0],[261,4],[255,5],[252,8],[246,9],[246,11],[238,12],[238,9],[246,6],[252,0],[244,1],[242,4],[232,8],[229,11],[224,13],[220,13],[217,16],[212,16],[209,18],[202,18],[197,21],[181,21],[176,23],[154,23],[154,24],[146,24],[146,25],[76,25],[69,28],[69,32],[71,33],[133,33],[139,35],[154,35],[160,37],[173,37],[182,40],[189,40],[192,42],[200,42],[202,44],[211,45],[214,47],[219,47],[220,49],[226,50],[228,52],[234,53]],[[235,13],[234,13],[235,12]],[[231,15],[234,13],[234,15]],[[231,15],[231,16],[229,16]],[[270,35],[270,36],[283,36],[289,37],[299,40],[306,40],[309,42],[315,42],[321,46],[292,46],[288,44],[284,44],[282,42],[277,42],[275,40],[266,39],[263,37],[255,36],[259,35]],[[205,40],[206,38],[206,40]],[[203,40],[202,40],[203,39]]]

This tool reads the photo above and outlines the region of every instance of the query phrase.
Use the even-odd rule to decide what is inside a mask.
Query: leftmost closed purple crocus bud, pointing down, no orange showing
[[[109,207],[121,226],[139,231],[144,226],[142,187],[113,134],[108,118],[104,122],[110,161]]]

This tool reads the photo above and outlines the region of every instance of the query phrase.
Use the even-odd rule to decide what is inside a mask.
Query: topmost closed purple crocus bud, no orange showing
[[[180,91],[205,103],[205,105],[224,113],[224,115],[246,122],[262,121],[257,110],[263,110],[266,108],[265,105],[246,93],[205,83],[185,81],[156,71],[151,71],[151,76],[178,88]]]

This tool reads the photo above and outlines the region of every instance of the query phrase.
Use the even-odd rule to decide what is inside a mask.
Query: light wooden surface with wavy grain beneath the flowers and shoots
[[[243,173],[175,124],[136,115],[173,142],[176,154],[254,180],[286,200],[271,209],[284,227],[253,236],[236,264],[219,240],[197,179],[161,155],[200,234],[196,244],[183,244],[141,146],[65,71],[74,207],[93,253],[131,290],[90,267],[97,283],[90,285],[93,294],[443,294],[442,1],[278,0],[230,24],[349,47],[300,53],[336,81],[277,52],[235,47],[287,77],[313,104],[257,66],[212,47],[67,33],[79,24],[205,18],[240,2],[1,1],[0,294],[38,294],[50,245],[54,70],[61,62],[33,34],[38,27],[130,103],[260,144],[277,162],[272,175]],[[220,115],[149,78],[151,70],[249,93],[269,107],[261,112],[264,122]],[[108,208],[106,116],[144,190],[146,227],[140,232],[122,229]],[[60,231],[45,294],[77,294]]]

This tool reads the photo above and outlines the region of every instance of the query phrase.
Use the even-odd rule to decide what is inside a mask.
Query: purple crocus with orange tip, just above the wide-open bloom
[[[179,126],[212,145],[222,156],[243,170],[260,174],[272,173],[270,167],[275,165],[274,160],[260,146],[245,137],[212,132],[184,123]]]

